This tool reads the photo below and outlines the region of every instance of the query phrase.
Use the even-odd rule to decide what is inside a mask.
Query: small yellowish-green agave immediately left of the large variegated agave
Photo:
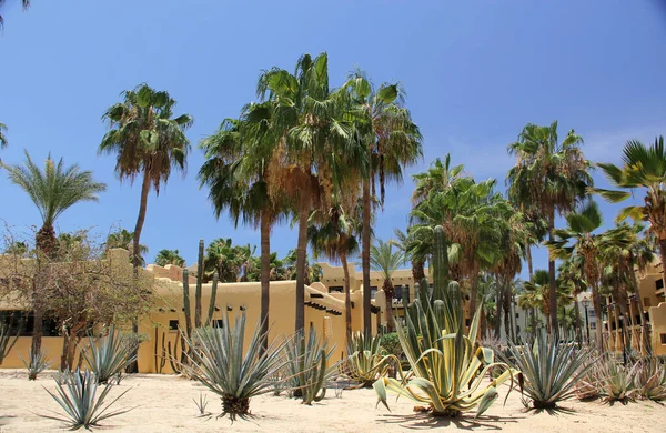
[[[349,339],[345,373],[359,386],[370,387],[389,372],[391,359],[386,356],[381,343],[381,336],[365,335],[362,332],[356,332]]]

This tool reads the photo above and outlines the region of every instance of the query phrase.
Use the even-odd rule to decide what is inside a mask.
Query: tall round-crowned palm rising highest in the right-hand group
[[[508,194],[526,214],[536,214],[547,222],[548,240],[553,240],[555,215],[564,215],[587,195],[593,185],[589,162],[581,144],[583,139],[571,130],[559,142],[557,121],[549,127],[528,123],[518,141],[508,145],[516,164],[508,171]],[[549,330],[557,333],[557,288],[555,261],[548,261]]]

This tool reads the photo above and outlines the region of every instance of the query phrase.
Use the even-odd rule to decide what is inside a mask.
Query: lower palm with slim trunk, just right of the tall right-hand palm
[[[602,282],[601,251],[603,236],[595,233],[604,224],[602,212],[596,202],[588,201],[576,212],[566,216],[566,228],[553,230],[553,238],[546,242],[551,260],[569,260],[577,255],[582,261],[585,280],[592,290],[592,303],[596,318],[602,318]],[[552,310],[551,310],[552,312]],[[603,350],[602,326],[596,329],[596,342]]]

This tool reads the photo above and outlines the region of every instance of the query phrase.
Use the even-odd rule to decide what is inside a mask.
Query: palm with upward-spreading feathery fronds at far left
[[[9,179],[19,185],[30,197],[42,218],[42,226],[36,235],[36,248],[49,260],[56,259],[58,239],[53,225],[56,220],[72,205],[98,201],[98,193],[107,190],[104,183],[95,182],[91,171],[82,171],[79,165],[64,167],[62,159],[56,163],[51,157],[46,161],[44,170],[32,162],[26,151],[23,165],[2,164],[9,173]],[[38,278],[39,280],[39,278]],[[33,330],[32,353],[39,353],[42,340],[43,316],[47,305],[43,302],[41,284],[36,284],[32,292]]]

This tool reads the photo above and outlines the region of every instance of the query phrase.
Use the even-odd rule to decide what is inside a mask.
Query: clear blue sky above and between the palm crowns
[[[183,179],[173,175],[149,198],[142,243],[149,262],[163,248],[195,261],[198,240],[224,236],[259,244],[252,228],[216,221],[199,190],[199,141],[255,100],[260,70],[292,69],[304,52],[327,51],[331,81],[355,67],[375,83],[400,81],[424,135],[424,159],[404,184],[390,185],[376,233],[406,225],[410,174],[451,152],[477,179],[504,177],[506,145],[527,122],[574,128],[596,161],[619,161],[627,139],[666,132],[666,9],[659,1],[216,1],[18,0],[2,7],[0,121],[9,127],[8,163],[49,152],[91,169],[109,185],[99,203],[71,208],[57,230],[133,229],[139,184],[120,184],[114,160],[98,155],[100,118],[119,93],[141,82],[168,90],[176,112],[195,119]],[[595,175],[597,182],[603,179]],[[0,173],[0,219],[27,232],[40,219]],[[618,207],[603,204],[612,223]],[[276,228],[273,248],[295,248]],[[546,266],[545,251],[535,265]]]

